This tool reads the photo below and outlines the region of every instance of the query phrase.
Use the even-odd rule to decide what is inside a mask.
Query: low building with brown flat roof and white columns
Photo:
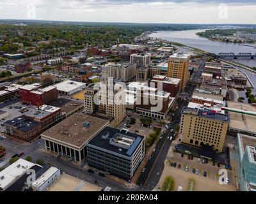
[[[86,157],[86,144],[108,124],[106,118],[74,113],[41,134],[44,149],[81,163]]]

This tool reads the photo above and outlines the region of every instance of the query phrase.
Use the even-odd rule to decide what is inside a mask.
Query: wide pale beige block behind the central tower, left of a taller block
[[[122,82],[127,82],[136,76],[136,63],[119,64],[111,62],[106,64],[106,67],[108,68],[108,77],[119,79]]]

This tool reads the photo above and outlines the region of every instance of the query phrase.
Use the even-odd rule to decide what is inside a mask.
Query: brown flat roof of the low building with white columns
[[[49,140],[57,140],[75,147],[81,147],[108,123],[109,120],[99,117],[84,113],[74,113],[41,135],[43,138],[48,138]]]

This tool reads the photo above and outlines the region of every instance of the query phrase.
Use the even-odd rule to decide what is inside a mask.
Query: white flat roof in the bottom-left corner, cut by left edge
[[[19,159],[15,163],[11,164],[3,171],[0,171],[0,189],[5,190],[10,187],[17,179],[22,177],[27,170],[35,166],[34,163],[26,161],[25,159]]]

